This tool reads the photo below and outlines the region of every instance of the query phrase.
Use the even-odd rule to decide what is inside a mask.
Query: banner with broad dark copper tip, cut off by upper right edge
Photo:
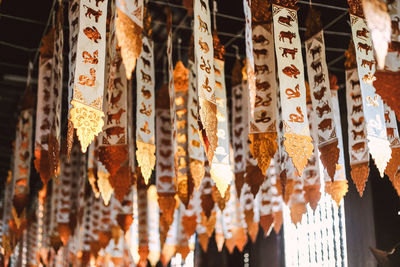
[[[400,79],[400,1],[388,1],[388,8],[392,20],[391,42],[389,43],[384,70],[378,70],[375,73],[376,81],[374,81],[374,87],[376,93],[394,110],[396,116],[400,117],[400,106],[397,100],[400,91],[398,83]]]

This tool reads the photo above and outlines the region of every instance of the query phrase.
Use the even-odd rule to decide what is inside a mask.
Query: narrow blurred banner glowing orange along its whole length
[[[187,102],[189,88],[189,70],[182,61],[176,63],[174,69],[176,123],[177,123],[177,154],[178,169],[176,173],[176,191],[179,199],[187,207],[193,193],[193,179],[189,172],[188,158],[188,126]]]

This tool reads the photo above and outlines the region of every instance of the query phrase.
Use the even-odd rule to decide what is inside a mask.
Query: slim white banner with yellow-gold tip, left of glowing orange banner
[[[147,9],[146,9],[147,10]],[[148,12],[146,12],[148,14]],[[154,45],[151,40],[151,18],[145,18],[143,47],[136,70],[136,158],[145,183],[148,184],[156,164],[154,129]]]

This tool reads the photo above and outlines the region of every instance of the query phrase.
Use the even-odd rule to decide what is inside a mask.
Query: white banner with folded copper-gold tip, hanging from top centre
[[[217,105],[215,102],[214,49],[211,16],[207,1],[194,1],[194,47],[199,107],[199,135],[206,156],[212,162],[218,145]]]

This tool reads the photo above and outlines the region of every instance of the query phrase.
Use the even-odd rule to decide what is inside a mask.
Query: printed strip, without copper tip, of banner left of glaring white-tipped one
[[[346,103],[350,165],[368,162],[367,128],[357,69],[346,70]]]

